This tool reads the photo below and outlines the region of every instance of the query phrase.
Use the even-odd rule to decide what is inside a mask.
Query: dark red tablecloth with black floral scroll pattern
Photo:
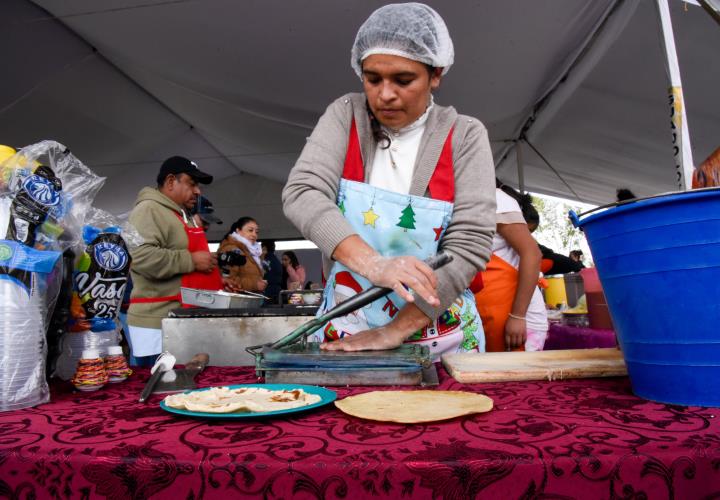
[[[423,425],[326,406],[292,417],[204,421],[137,403],[147,371],[94,393],[0,413],[0,497],[718,498],[720,410],[651,403],[626,378],[440,389],[490,413]],[[210,367],[200,386],[255,382]],[[659,381],[660,383],[660,381]],[[341,388],[338,396],[370,388]]]

